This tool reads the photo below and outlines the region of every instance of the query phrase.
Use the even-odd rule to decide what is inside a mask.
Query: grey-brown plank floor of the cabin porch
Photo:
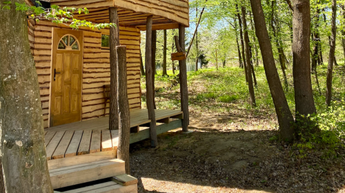
[[[155,113],[157,122],[166,124],[170,117],[183,118],[182,111],[157,109]],[[119,130],[109,130],[108,122],[107,116],[47,128],[44,132],[47,160],[116,150]],[[146,109],[130,112],[131,127],[149,122]]]

